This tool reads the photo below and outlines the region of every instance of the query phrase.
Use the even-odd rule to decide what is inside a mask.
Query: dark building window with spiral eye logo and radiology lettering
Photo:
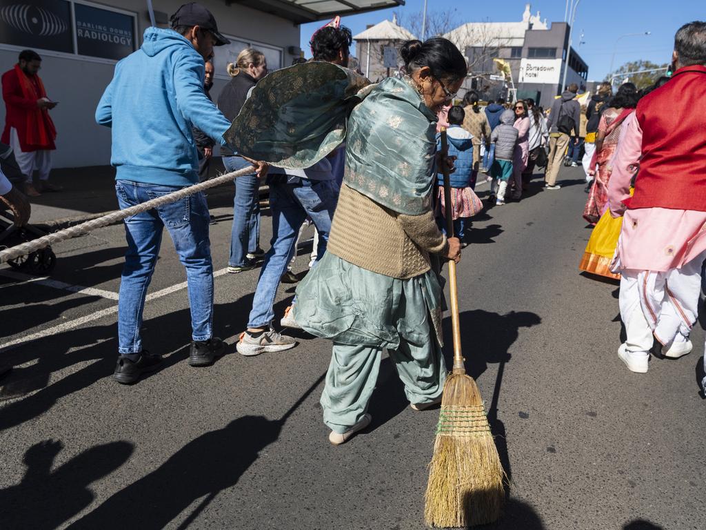
[[[90,2],[16,0],[0,10],[0,44],[11,49],[119,61],[137,49],[136,35],[136,13]]]

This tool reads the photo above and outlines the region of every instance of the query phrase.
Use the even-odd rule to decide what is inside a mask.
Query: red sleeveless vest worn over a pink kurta
[[[628,208],[706,211],[706,66],[684,66],[635,111],[642,158]]]

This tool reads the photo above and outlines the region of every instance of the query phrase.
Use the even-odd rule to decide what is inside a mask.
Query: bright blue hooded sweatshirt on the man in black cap
[[[190,186],[198,182],[191,126],[225,145],[230,122],[203,91],[204,61],[173,30],[148,28],[142,47],[115,65],[95,111],[112,127],[116,180]]]

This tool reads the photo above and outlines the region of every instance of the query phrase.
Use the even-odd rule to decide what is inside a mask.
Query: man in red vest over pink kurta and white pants
[[[677,31],[672,59],[671,79],[626,124],[608,189],[611,213],[624,212],[614,271],[627,339],[618,356],[641,373],[653,337],[665,357],[690,353],[706,259],[706,22]]]

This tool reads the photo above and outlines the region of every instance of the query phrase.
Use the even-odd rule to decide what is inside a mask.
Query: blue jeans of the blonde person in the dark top
[[[239,156],[224,156],[222,160],[227,172],[241,170],[251,165]],[[253,175],[238,177],[233,182],[235,196],[228,264],[238,267],[245,264],[248,252],[255,252],[260,246],[260,202],[258,201],[260,179],[253,173]]]

